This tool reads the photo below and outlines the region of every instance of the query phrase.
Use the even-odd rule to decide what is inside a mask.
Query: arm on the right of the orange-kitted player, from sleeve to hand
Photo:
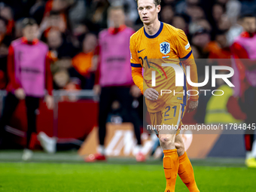
[[[187,36],[184,34],[182,30],[178,30],[177,35],[177,44],[176,49],[178,53],[178,57],[181,59],[181,62],[184,63],[185,66],[190,66],[190,80],[194,83],[197,83],[197,65],[194,60],[194,56],[192,53],[191,46],[189,42],[187,41]],[[193,111],[195,108],[197,108],[198,105],[198,87],[193,87],[188,85],[189,90],[195,90],[190,91],[190,99],[188,102],[188,112]]]

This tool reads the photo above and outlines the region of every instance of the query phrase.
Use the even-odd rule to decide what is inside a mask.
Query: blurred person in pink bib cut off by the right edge
[[[245,165],[256,168],[256,160],[251,150],[254,142],[254,130],[251,129],[255,122],[256,108],[256,18],[252,14],[242,16],[244,32],[234,41],[231,50],[235,65],[233,69],[234,96],[239,96],[239,104],[247,118],[245,130]]]

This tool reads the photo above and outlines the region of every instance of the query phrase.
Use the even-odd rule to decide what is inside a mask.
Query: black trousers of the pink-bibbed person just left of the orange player
[[[99,98],[99,144],[104,145],[106,135],[106,120],[111,111],[111,104],[114,100],[120,102],[123,121],[131,122],[134,126],[138,145],[141,145],[140,120],[136,110],[133,109],[133,96],[130,95],[130,87],[102,87]]]

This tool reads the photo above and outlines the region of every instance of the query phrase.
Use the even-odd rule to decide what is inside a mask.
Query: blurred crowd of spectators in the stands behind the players
[[[230,59],[230,45],[242,32],[241,14],[256,10],[253,0],[163,0],[160,20],[184,30],[195,59]],[[123,6],[126,26],[142,27],[134,0],[4,0],[0,3],[0,89],[5,89],[8,47],[22,36],[22,20],[33,17],[38,38],[50,49],[54,89],[92,89],[102,29],[109,6]],[[220,61],[219,61],[220,62]],[[227,63],[218,63],[230,66]],[[200,65],[200,62],[197,63]],[[198,66],[199,76],[204,76]]]

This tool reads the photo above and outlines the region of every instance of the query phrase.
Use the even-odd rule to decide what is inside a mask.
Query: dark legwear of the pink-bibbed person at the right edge
[[[245,123],[248,125],[256,125],[256,87],[249,87],[245,90],[245,101],[239,103],[242,111],[247,115]],[[246,151],[251,151],[254,142],[254,130],[245,130],[245,149]]]

